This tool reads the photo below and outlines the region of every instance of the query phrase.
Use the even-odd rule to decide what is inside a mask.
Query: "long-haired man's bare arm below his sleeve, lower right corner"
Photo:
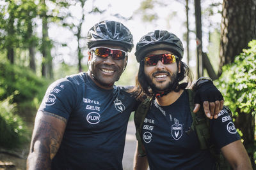
[[[241,140],[237,140],[226,146],[223,146],[221,148],[221,152],[233,169],[252,169],[252,163],[250,162],[248,153],[246,152]]]

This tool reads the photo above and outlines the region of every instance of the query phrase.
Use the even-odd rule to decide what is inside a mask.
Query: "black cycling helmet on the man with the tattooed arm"
[[[104,20],[95,24],[87,35],[87,46],[92,48],[105,43],[119,45],[131,52],[133,45],[132,34],[122,23]]]

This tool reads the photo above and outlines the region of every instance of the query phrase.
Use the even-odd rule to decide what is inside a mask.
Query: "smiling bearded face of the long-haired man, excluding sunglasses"
[[[172,53],[166,50],[156,50],[148,55],[158,55],[163,53]],[[158,60],[156,66],[148,66],[144,65],[144,73],[147,78],[148,84],[152,88],[152,90],[156,92],[164,92],[167,89],[175,88],[173,87],[173,83],[177,80],[177,62],[173,62],[172,64],[163,64],[161,60]],[[174,89],[173,89],[174,90]]]

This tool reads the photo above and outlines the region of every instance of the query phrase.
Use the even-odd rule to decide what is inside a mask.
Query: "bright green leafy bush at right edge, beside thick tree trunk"
[[[256,113],[256,40],[251,41],[234,60],[224,66],[216,85],[223,93],[225,105],[232,110],[236,127],[244,146],[256,167],[255,113]]]

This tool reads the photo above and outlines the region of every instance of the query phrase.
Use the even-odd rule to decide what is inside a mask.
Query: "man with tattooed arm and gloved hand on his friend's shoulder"
[[[114,83],[132,41],[120,22],[102,21],[88,31],[89,71],[50,85],[36,114],[28,169],[122,169],[127,123],[140,102]],[[220,103],[220,92],[210,89]]]

